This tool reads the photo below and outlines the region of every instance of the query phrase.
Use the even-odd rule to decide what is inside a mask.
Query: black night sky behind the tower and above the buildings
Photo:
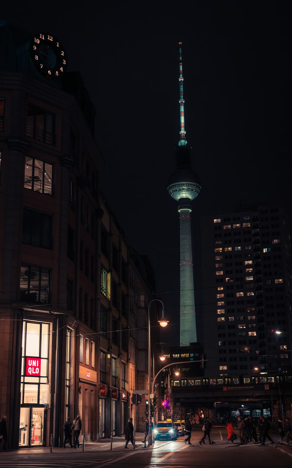
[[[198,303],[200,216],[273,201],[292,218],[289,2],[10,3],[1,19],[56,36],[68,71],[82,74],[106,161],[102,190],[128,244],[153,262],[171,320],[162,340],[178,344],[178,203],[167,192],[180,130],[178,42],[186,138],[202,185],[192,202]]]

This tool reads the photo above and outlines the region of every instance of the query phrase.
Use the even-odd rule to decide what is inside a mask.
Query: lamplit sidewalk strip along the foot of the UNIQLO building
[[[136,432],[135,434],[135,445],[136,448],[135,450],[149,450],[155,448],[154,445],[148,446],[148,437],[146,441],[146,448],[144,447],[144,444],[142,444],[142,439],[144,439],[144,432]],[[80,448],[76,449],[76,453],[82,452],[82,443],[83,441],[83,435],[80,438]],[[169,443],[169,441],[165,441],[165,443]],[[162,446],[165,444],[159,444],[159,446]],[[124,450],[125,447],[125,436],[123,437],[113,437],[113,444],[112,444],[112,450],[113,451],[118,451],[118,450]],[[133,450],[133,446],[131,442],[128,443],[128,447],[130,450]],[[111,439],[100,439],[97,442],[86,442],[85,439],[85,447],[84,447],[85,452],[107,452],[111,451]],[[75,453],[75,450],[71,448],[67,444],[67,448],[62,447],[52,447],[52,453],[64,453],[72,451]],[[1,453],[1,455],[4,455],[5,452]],[[16,450],[8,450],[7,453],[13,453],[15,454],[30,454],[30,455],[38,455],[40,453],[50,453],[50,447],[29,447],[29,448],[20,448]]]

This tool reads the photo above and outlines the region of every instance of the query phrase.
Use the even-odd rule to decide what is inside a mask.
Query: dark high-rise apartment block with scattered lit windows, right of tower
[[[205,375],[252,383],[251,374],[268,383],[276,371],[291,371],[292,254],[283,209],[202,218],[201,252]]]

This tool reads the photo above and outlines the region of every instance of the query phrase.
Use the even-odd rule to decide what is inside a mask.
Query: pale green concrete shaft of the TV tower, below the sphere
[[[180,346],[197,341],[192,271],[190,205],[178,207],[180,213]]]

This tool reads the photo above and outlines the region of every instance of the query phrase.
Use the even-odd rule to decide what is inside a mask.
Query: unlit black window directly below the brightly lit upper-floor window
[[[22,242],[52,249],[52,224],[53,216],[51,214],[23,208]]]

